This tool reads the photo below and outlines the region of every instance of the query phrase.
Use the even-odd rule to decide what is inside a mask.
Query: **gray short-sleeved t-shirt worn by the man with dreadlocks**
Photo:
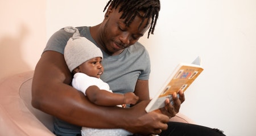
[[[98,46],[96,41],[94,41],[90,35],[89,27],[77,27],[77,29],[79,29],[81,36],[86,37]],[[60,29],[51,36],[44,52],[53,50],[63,54],[65,45],[72,35],[73,33],[68,33],[65,32],[64,29]],[[101,79],[109,84],[110,90],[114,93],[123,94],[126,92],[134,92],[138,79],[148,80],[150,75],[150,58],[147,50],[139,42],[129,46],[129,48],[126,48],[117,56],[109,56],[104,50],[101,51],[104,57],[102,61],[104,74],[101,75]],[[56,134],[72,135],[67,133],[75,133],[75,131],[81,133],[81,128],[74,130],[74,126],[69,126],[67,123],[58,120],[57,118],[55,118],[54,125]]]

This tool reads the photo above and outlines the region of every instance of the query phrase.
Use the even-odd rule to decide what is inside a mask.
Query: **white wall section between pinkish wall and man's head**
[[[88,1],[88,0],[47,0],[46,24],[47,40],[49,37],[66,26],[84,26],[101,23],[103,10],[108,1]]]

